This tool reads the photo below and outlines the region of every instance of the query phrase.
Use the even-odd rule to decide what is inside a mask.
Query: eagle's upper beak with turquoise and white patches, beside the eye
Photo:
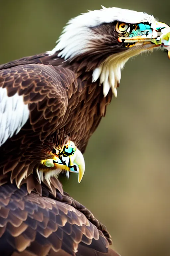
[[[163,37],[170,32],[170,27],[162,22],[155,21],[151,25],[139,23],[134,25],[131,33],[123,34],[126,37],[119,37],[118,41],[125,43],[126,47],[152,44],[150,48],[161,46]],[[169,39],[168,39],[169,40]],[[167,40],[165,40],[167,42]]]

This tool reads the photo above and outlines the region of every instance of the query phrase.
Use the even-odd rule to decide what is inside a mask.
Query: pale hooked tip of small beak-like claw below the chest
[[[76,170],[74,167],[70,168],[70,172],[78,172],[78,183],[80,183],[85,171],[85,161],[83,154],[78,148],[76,148],[75,153],[70,156],[70,162],[71,166],[76,167]]]

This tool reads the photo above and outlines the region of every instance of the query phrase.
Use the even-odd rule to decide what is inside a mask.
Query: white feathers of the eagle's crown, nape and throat
[[[105,8],[102,6],[102,8],[103,9],[101,10],[83,13],[69,20],[67,25],[64,27],[61,36],[56,42],[57,45],[47,53],[49,55],[53,55],[55,52],[60,51],[58,57],[67,60],[88,52],[90,49],[90,42],[94,39],[93,31],[90,28],[103,23],[122,21],[132,24],[140,22],[149,22],[151,24],[155,22],[155,18],[152,15],[148,15],[143,12],[136,12],[116,7]],[[99,35],[99,37],[101,38],[101,35]],[[95,39],[97,39],[96,34]],[[120,82],[121,79],[121,69],[131,56],[136,55],[134,51],[131,52],[132,53],[128,56],[124,54],[123,59],[120,54],[114,54],[114,57],[109,57],[107,61],[104,61],[100,67],[94,70],[92,82],[95,82],[100,78],[100,84],[103,83],[104,96],[108,94],[111,87],[114,95],[117,96],[116,87],[117,83]]]

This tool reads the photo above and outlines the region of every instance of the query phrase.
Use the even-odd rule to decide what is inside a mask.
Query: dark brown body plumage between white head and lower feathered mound
[[[31,192],[30,175],[36,175],[36,166],[54,145],[70,139],[84,152],[112,94],[104,98],[99,82],[90,82],[92,73],[76,72],[79,65],[75,64],[41,54],[0,66],[0,87],[7,89],[9,97],[22,95],[30,111],[19,133],[0,147],[0,184],[10,179],[19,186],[21,180],[26,182],[23,177],[29,177]],[[41,194],[39,183],[34,183]]]

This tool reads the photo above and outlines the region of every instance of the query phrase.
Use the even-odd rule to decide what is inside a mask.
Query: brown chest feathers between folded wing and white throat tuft
[[[105,115],[106,107],[112,99],[111,92],[107,97],[103,97],[103,86],[99,86],[99,81],[92,83],[91,77],[91,72],[85,77],[79,75],[75,91],[73,88],[68,89],[68,97],[70,91],[72,94],[68,101],[65,121],[63,120],[65,133],[81,152],[84,152],[90,136]]]

